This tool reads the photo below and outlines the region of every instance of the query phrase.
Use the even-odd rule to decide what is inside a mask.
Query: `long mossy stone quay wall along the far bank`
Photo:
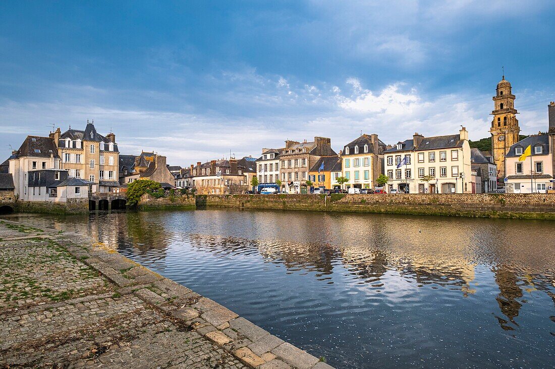
[[[196,196],[198,208],[296,209],[555,219],[555,194],[274,194]]]

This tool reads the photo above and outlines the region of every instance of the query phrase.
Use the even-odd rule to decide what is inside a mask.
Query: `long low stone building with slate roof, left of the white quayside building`
[[[235,158],[200,161],[189,168],[189,178],[197,194],[240,194],[248,190],[245,168]]]

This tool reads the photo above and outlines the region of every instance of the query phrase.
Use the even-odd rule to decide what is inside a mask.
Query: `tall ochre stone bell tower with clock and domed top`
[[[493,96],[493,120],[491,122],[491,151],[493,160],[497,164],[498,178],[505,177],[505,155],[509,148],[517,143],[520,127],[514,109],[515,96],[511,93],[511,84],[503,78],[497,84],[497,94]]]

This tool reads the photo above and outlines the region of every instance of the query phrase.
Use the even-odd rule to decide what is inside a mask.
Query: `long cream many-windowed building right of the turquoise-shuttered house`
[[[412,140],[397,142],[384,156],[388,192],[472,193],[465,127],[458,135],[424,137],[415,133]]]

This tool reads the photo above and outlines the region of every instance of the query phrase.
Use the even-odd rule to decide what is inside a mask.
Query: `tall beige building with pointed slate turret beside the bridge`
[[[69,178],[81,178],[95,184],[95,192],[112,192],[119,186],[119,151],[115,135],[100,135],[87,121],[85,130],[69,127],[63,134],[58,128],[50,134],[57,146],[60,167]]]

